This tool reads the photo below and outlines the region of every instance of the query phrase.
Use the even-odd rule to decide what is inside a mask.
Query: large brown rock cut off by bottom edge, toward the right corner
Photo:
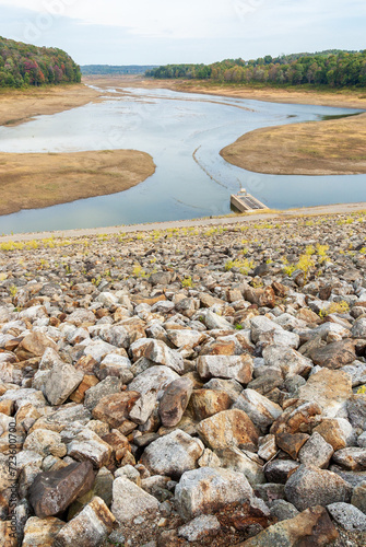
[[[327,510],[317,505],[306,509],[293,519],[272,524],[255,537],[238,544],[237,547],[292,547],[295,545],[321,547],[332,545],[338,536]]]

